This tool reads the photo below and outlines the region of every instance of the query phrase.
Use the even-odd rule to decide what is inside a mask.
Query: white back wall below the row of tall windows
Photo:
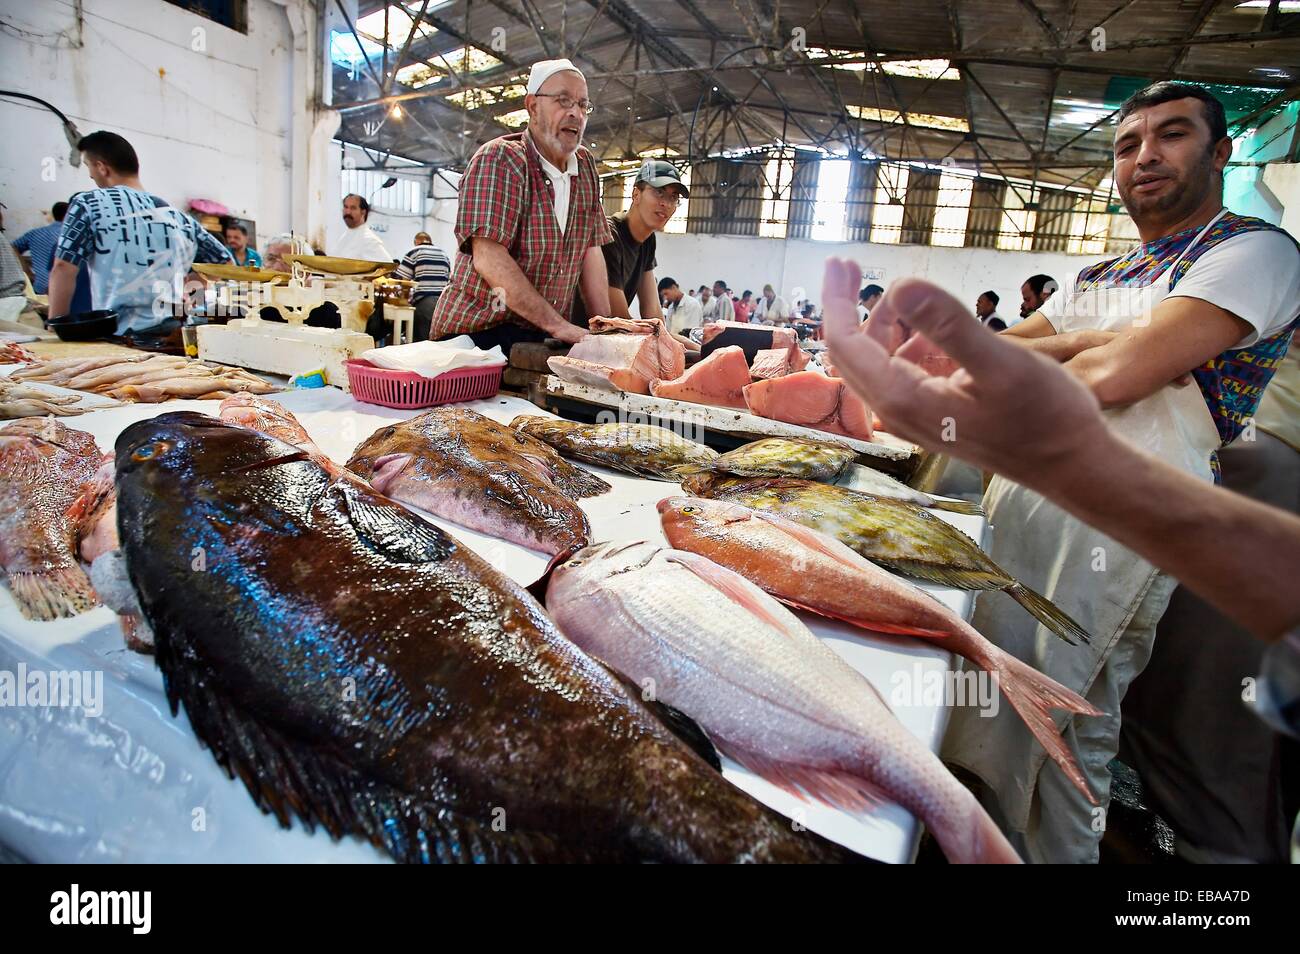
[[[853,259],[863,270],[878,273],[868,281],[885,287],[898,278],[927,278],[968,302],[972,312],[980,292],[996,291],[1001,298],[998,313],[1005,317],[1019,315],[1020,283],[1030,276],[1041,272],[1065,285],[1084,265],[1108,257],[688,234],[658,237],[655,276],[676,278],[682,289],[698,289],[722,278],[737,296],[746,289],[759,295],[768,283],[792,299],[803,289],[809,300],[820,305],[822,270],[831,256]]]

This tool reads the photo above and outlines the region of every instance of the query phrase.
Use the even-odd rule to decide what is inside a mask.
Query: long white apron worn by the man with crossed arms
[[[1178,263],[1225,212],[1219,212],[1150,285],[1101,289],[1097,285],[1105,276],[1098,278],[1066,305],[1058,330],[1123,331],[1135,322],[1149,321],[1152,309],[1169,295]],[[1032,395],[1026,398],[1032,400]],[[1213,480],[1210,455],[1218,450],[1219,437],[1197,386],[1170,383],[1135,404],[1102,415],[1118,434],[1148,454],[1202,480]],[[1158,507],[1160,500],[1152,500],[1152,506]],[[1078,620],[1092,636],[1092,642],[1065,643],[1000,593],[979,595],[975,626],[1002,649],[1086,695],[1106,712],[1104,717],[1079,716],[1066,730],[1071,747],[1082,746],[1083,751],[1076,750],[1075,756],[1097,801],[1105,806],[1110,784],[1106,766],[1119,743],[1119,702],[1147,664],[1156,624],[1175,581],[1041,495],[1001,477],[989,483],[984,507],[994,528],[993,559]],[[1098,676],[1104,677],[1098,680]],[[1056,715],[1057,725],[1065,729],[1071,716]],[[1010,829],[1026,832],[1054,827],[1061,837],[1048,834],[1045,844],[1083,841],[1084,853],[1095,851],[1101,825],[1089,811],[1091,806],[1082,795],[1075,795],[1054,763],[1044,769],[1046,753],[1010,706],[1002,706],[993,717],[982,717],[972,707],[954,710],[942,754],[945,760],[970,769],[989,785],[997,797],[997,814]],[[1031,818],[1035,790],[1048,782],[1061,795],[1053,799],[1057,816],[1039,818],[1035,811]],[[1070,801],[1075,802],[1072,808],[1062,810]],[[1089,831],[1095,837],[1088,837]],[[1053,851],[1048,849],[1045,854]]]

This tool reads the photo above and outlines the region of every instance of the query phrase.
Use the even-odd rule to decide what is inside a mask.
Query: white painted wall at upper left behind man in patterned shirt
[[[250,0],[247,35],[162,0],[84,0],[81,29],[70,0],[3,6],[0,87],[52,103],[83,135],[126,136],[146,188],[173,205],[220,201],[255,220],[259,240],[289,229],[295,100],[282,3]],[[0,129],[10,237],[92,187],[53,113],[0,99]]]

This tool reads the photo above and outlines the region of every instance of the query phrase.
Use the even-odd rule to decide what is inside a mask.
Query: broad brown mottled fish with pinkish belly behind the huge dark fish
[[[610,485],[541,441],[448,404],[370,434],[347,469],[381,494],[558,556],[592,534],[577,498]]]

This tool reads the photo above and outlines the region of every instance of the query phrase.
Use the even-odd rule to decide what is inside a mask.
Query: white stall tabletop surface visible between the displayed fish
[[[5,373],[0,370],[0,374]],[[376,429],[419,412],[361,404],[335,389],[290,391],[277,399],[304,425],[334,461],[348,460]],[[126,404],[87,409],[72,426],[112,448],[130,424],[159,413],[195,409],[209,415],[216,400],[172,400],[165,407]],[[491,420],[510,424],[537,408],[517,398],[473,402]],[[676,485],[588,467],[612,491],[582,499],[593,541],[651,541],[666,546],[655,504]],[[945,512],[942,520],[975,541],[988,533],[982,516]],[[446,520],[432,521],[520,584],[546,569],[543,554],[476,533]],[[946,607],[968,619],[972,593],[922,584]],[[993,597],[1001,598],[1001,597]],[[202,612],[196,606],[195,611]],[[867,677],[894,715],[937,751],[948,710],[935,693],[954,656],[936,645],[884,634],[863,634],[812,613],[798,617],[831,650]],[[124,646],[117,617],[96,607],[70,619],[23,619],[8,587],[0,587],[0,671],[22,673],[32,694],[26,704],[0,707],[0,844],[40,862],[381,862],[387,855],[352,837],[332,841],[302,824],[281,828],[257,810],[243,784],[230,780],[200,747],[186,712],[169,711],[162,680],[150,656]],[[47,673],[84,673],[83,704],[44,704],[35,686]],[[100,689],[101,686],[101,689]],[[901,688],[910,688],[904,698]],[[94,698],[91,698],[94,697]],[[849,812],[802,801],[729,759],[724,776],[793,823],[884,862],[915,855],[920,825],[902,807],[883,805]]]

